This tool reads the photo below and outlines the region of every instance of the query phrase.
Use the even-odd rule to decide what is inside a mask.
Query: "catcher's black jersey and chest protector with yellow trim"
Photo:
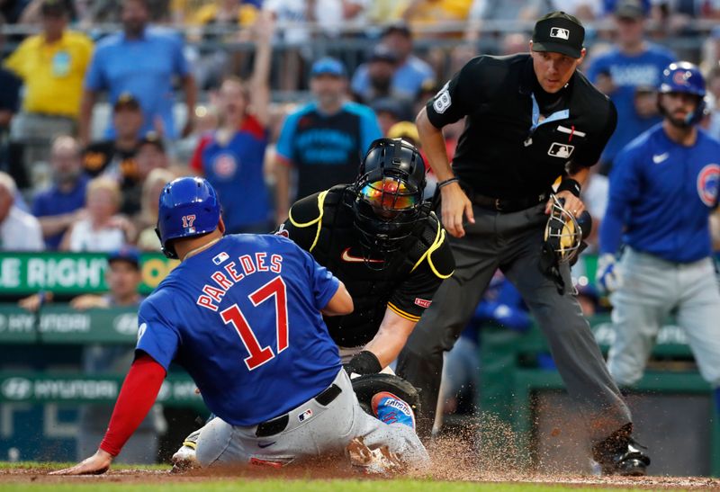
[[[418,321],[437,288],[455,270],[446,231],[434,213],[419,220],[401,247],[388,255],[367,250],[354,225],[352,187],[341,184],[296,201],[277,231],[290,237],[335,274],[353,297],[355,310],[326,317],[341,347],[367,344],[386,309]]]

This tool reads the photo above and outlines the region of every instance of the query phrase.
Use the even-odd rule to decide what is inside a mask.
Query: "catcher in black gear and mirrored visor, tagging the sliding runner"
[[[410,383],[378,373],[390,371],[388,364],[455,269],[445,229],[422,199],[424,188],[418,149],[401,139],[377,139],[355,183],[296,201],[276,231],[310,252],[352,296],[352,313],[324,320],[368,413],[371,398],[381,391],[407,401],[416,416],[421,411]],[[201,431],[175,452],[176,466],[193,466]]]

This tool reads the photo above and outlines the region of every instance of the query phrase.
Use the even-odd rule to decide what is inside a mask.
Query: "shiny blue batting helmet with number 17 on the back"
[[[194,237],[215,230],[220,222],[220,201],[211,184],[199,177],[177,178],[160,193],[157,237],[168,258],[177,258],[172,239]]]

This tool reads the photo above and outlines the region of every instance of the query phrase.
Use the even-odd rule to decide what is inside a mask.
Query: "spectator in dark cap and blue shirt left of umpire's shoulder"
[[[395,23],[383,31],[381,43],[397,56],[395,72],[392,75],[392,94],[410,101],[415,100],[423,83],[435,80],[435,72],[427,62],[412,54],[412,32],[404,23]],[[354,94],[365,94],[371,90],[369,65],[357,67],[351,84]]]

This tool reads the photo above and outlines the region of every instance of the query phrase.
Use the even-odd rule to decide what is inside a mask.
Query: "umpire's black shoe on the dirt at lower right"
[[[650,457],[641,451],[647,448],[635,442],[632,432],[632,424],[624,425],[592,446],[592,458],[598,462],[603,475],[642,477],[647,474]]]

